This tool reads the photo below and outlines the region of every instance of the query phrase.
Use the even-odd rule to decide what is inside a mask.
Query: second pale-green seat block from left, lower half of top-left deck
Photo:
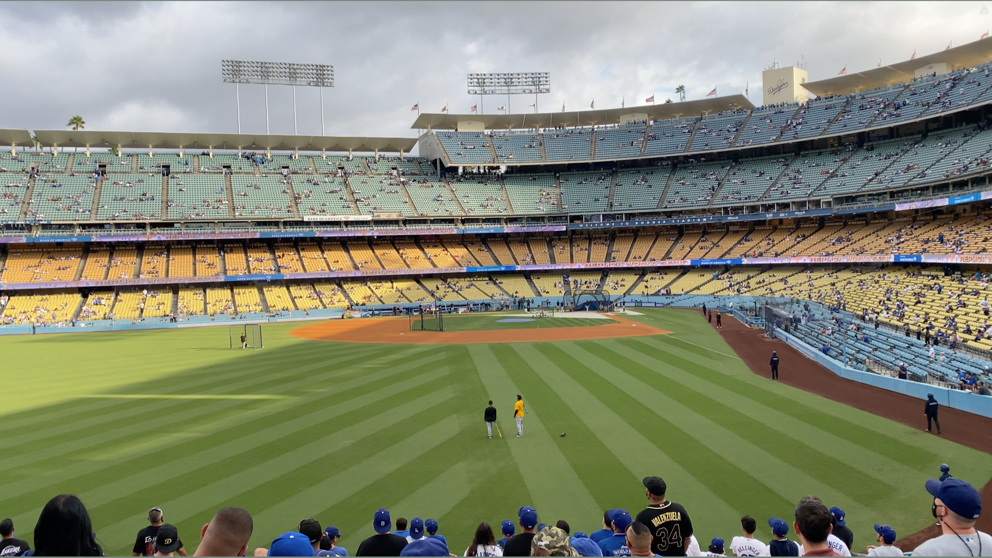
[[[27,214],[33,220],[89,220],[95,192],[96,183],[88,176],[46,175],[35,179]]]

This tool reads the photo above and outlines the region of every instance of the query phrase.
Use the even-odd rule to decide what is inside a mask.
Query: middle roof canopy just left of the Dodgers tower
[[[647,114],[648,119],[666,120],[684,116],[700,116],[714,114],[724,110],[754,108],[751,101],[744,95],[726,95],[722,97],[670,102],[664,104],[645,104],[628,106],[626,108],[605,108],[602,110],[577,110],[569,112],[525,112],[520,114],[444,114],[422,113],[411,128],[434,130],[455,130],[459,122],[482,122],[487,130],[510,130],[515,128],[554,128],[556,126],[604,126],[620,124],[626,119],[622,116],[631,114]]]

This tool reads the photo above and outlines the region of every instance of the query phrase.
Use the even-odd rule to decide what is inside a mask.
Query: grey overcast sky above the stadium
[[[221,59],[334,66],[327,135],[406,136],[419,102],[467,113],[472,71],[550,71],[539,108],[587,109],[743,92],[805,57],[809,79],[975,41],[983,2],[0,3],[0,128],[235,132]],[[989,1],[992,10],[992,0]],[[511,99],[513,112],[533,95]],[[484,100],[486,112],[505,96]],[[300,134],[319,134],[316,89],[297,88]],[[293,133],[293,97],[269,87],[272,133]],[[241,129],[265,133],[261,85],[241,86]]]

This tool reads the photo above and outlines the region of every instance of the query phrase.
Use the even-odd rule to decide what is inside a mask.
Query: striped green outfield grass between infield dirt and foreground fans
[[[940,463],[976,486],[992,474],[988,455],[752,374],[694,313],[633,319],[676,334],[342,345],[280,324],[262,350],[227,349],[227,328],[0,338],[0,515],[30,541],[44,503],[73,492],[106,553],[127,555],[160,505],[191,553],[217,508],[240,505],[253,547],[314,516],[353,554],[385,506],[436,518],[461,554],[478,521],[524,504],[595,530],[661,475],[703,544],[745,513],[767,540],[765,519],[813,493],[844,508],[863,551],[873,523],[930,524],[923,483]],[[488,399],[505,438],[485,436]]]

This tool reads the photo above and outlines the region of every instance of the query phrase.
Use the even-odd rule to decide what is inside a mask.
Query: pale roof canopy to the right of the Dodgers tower
[[[838,75],[818,81],[807,81],[803,84],[806,90],[816,96],[846,95],[865,91],[868,89],[878,89],[888,87],[898,83],[907,83],[916,75],[916,71],[933,64],[946,64],[947,71],[960,70],[962,68],[974,68],[980,64],[985,64],[992,60],[992,41],[975,41],[954,47],[939,53],[919,57],[881,68],[871,70],[849,72],[847,75]]]

